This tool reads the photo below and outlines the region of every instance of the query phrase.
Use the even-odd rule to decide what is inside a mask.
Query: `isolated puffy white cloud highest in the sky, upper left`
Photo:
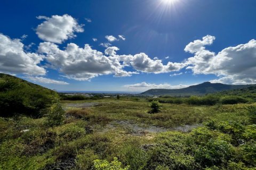
[[[61,44],[63,41],[74,38],[75,32],[83,32],[82,24],[78,24],[76,19],[70,15],[52,15],[51,18],[46,16],[37,16],[37,19],[45,21],[36,28],[36,34],[44,41]]]

